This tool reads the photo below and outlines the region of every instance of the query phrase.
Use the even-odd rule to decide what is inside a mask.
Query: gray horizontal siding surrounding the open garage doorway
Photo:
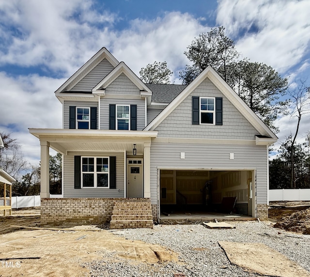
[[[185,159],[180,159],[185,152]],[[229,159],[234,153],[234,160]],[[169,169],[256,169],[257,204],[267,203],[266,146],[151,144],[151,200],[157,204],[157,168]]]

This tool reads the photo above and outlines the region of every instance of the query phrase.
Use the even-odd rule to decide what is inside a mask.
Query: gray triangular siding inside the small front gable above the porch
[[[106,94],[140,95],[140,89],[122,73],[106,88]]]

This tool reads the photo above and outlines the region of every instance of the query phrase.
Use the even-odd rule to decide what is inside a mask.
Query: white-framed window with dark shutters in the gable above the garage
[[[193,125],[223,125],[223,98],[192,97]]]

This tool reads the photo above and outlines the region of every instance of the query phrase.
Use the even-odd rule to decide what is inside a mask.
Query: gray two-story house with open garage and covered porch
[[[135,199],[151,201],[157,219],[182,201],[205,210],[227,196],[239,213],[267,218],[277,136],[212,67],[188,86],[145,84],[102,48],[55,95],[63,129],[30,129],[44,223],[108,221],[116,202]],[[49,147],[63,155],[62,198],[49,195]]]

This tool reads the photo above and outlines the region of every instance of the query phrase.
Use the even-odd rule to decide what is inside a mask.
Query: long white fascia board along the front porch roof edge
[[[158,131],[131,131],[131,130],[81,130],[81,129],[40,129],[29,128],[29,132],[40,136],[105,136],[105,137],[157,137]]]

